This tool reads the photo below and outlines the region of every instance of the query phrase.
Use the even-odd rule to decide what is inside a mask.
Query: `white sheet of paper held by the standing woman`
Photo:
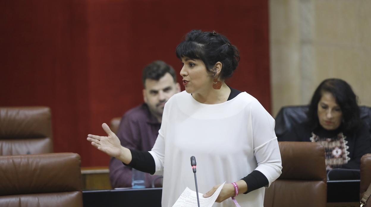
[[[226,182],[224,182],[226,183]],[[198,193],[198,199],[200,200],[200,207],[211,207],[213,206],[216,198],[219,196],[221,188],[223,188],[224,183],[219,186],[214,194],[208,198],[204,198],[202,193]],[[186,187],[183,193],[179,196],[178,200],[174,203],[173,207],[198,207],[197,205],[197,194]]]

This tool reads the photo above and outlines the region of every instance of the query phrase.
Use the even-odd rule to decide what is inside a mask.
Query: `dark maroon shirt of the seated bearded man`
[[[129,149],[151,151],[158,136],[161,123],[152,116],[147,104],[142,104],[122,116],[117,136],[121,145]],[[152,180],[159,176],[146,173],[145,186],[150,188]],[[131,187],[131,167],[124,166],[120,160],[112,157],[109,163],[109,178],[113,188]],[[155,182],[155,187],[162,187],[162,179]]]

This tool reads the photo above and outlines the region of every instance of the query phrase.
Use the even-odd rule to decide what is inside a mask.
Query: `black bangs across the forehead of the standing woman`
[[[175,53],[178,59],[182,59],[182,57],[189,57],[191,59],[203,60],[202,44],[198,44],[193,41],[181,42],[177,46]]]

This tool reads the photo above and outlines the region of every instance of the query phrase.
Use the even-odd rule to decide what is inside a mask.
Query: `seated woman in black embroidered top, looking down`
[[[325,147],[326,170],[358,169],[361,157],[371,153],[369,128],[361,120],[357,97],[341,79],[326,79],[315,90],[308,120],[293,126],[278,141],[311,141]],[[359,178],[359,173],[336,173],[335,178]]]

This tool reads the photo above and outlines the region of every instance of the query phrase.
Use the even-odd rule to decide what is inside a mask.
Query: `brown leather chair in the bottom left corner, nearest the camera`
[[[82,207],[80,156],[0,156],[1,207]]]

